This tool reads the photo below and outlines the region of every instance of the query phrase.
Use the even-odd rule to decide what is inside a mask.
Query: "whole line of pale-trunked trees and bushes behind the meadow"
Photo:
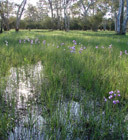
[[[128,0],[38,0],[36,5],[0,1],[2,29],[115,30],[126,34]],[[27,4],[27,6],[26,6]],[[22,18],[21,18],[22,17]]]

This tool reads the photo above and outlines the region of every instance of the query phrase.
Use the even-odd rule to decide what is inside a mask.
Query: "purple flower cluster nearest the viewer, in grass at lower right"
[[[112,101],[113,104],[119,103],[118,97],[120,97],[120,91],[119,90],[109,92],[108,99],[109,100],[113,99],[113,101]],[[108,99],[104,97],[105,102],[107,102]]]

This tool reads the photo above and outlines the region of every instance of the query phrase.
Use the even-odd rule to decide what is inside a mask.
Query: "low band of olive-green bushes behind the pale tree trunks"
[[[101,19],[102,20],[102,19]],[[70,30],[92,30],[97,31],[100,30],[115,30],[114,21],[109,18],[105,20],[99,20],[99,18],[94,17],[86,17],[86,19],[82,18],[70,18],[69,20],[69,28]],[[16,18],[11,17],[9,19],[9,28],[15,29]],[[64,19],[58,25],[58,19],[47,17],[42,21],[27,21],[22,19],[20,21],[20,29],[53,29],[53,30],[65,30]]]

